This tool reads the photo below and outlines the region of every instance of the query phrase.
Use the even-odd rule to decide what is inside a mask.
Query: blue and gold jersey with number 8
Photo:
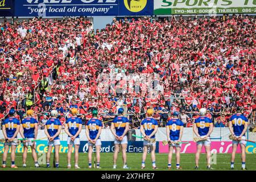
[[[171,140],[179,140],[180,138],[180,127],[183,127],[183,122],[180,119],[170,119],[166,127],[170,130],[170,139]]]

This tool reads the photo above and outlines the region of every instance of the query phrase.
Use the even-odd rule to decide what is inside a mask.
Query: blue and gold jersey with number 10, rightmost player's
[[[248,122],[248,119],[243,114],[234,114],[230,118],[230,121],[233,125],[234,134],[238,137],[241,135],[243,129],[245,129],[245,122]]]

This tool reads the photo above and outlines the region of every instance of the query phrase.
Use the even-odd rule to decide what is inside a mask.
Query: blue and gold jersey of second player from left
[[[35,118],[27,117],[22,120],[23,134],[26,138],[35,138],[35,123],[38,123]]]

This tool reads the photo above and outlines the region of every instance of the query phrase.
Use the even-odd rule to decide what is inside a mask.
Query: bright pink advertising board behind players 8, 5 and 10
[[[212,142],[210,145],[210,151],[213,154],[230,154],[232,153],[232,142]],[[169,148],[163,146],[162,142],[159,142],[159,153],[168,153]],[[188,144],[181,144],[181,153],[196,153],[196,142],[189,142]],[[202,152],[205,152],[203,147]],[[241,152],[240,147],[237,148],[237,152]]]

